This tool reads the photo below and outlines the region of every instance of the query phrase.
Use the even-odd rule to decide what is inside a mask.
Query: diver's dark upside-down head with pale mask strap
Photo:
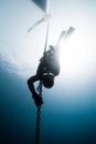
[[[54,85],[54,74],[53,73],[43,74],[43,85],[47,89],[51,89]]]

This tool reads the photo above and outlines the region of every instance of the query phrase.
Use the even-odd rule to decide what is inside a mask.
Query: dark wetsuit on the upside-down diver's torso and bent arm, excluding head
[[[57,52],[55,52],[55,50],[51,49],[45,52],[44,56],[42,56],[40,59],[40,64],[38,66],[36,74],[31,76],[28,80],[28,85],[29,85],[29,89],[30,89],[34,100],[35,100],[35,97],[38,99],[39,96],[35,92],[33,83],[35,81],[40,81],[40,80],[42,81],[44,73],[53,73],[54,76],[60,74],[58,55],[57,55]],[[40,102],[40,103],[42,103],[42,102]]]

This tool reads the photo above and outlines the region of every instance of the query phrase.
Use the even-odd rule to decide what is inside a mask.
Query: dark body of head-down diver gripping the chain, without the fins
[[[49,47],[50,49],[40,59],[36,74],[28,80],[28,86],[32,93],[32,97],[36,106],[41,106],[41,104],[43,104],[43,100],[36,93],[33,83],[36,81],[42,81],[44,88],[51,89],[54,85],[54,78],[60,74],[58,52],[53,45]]]

